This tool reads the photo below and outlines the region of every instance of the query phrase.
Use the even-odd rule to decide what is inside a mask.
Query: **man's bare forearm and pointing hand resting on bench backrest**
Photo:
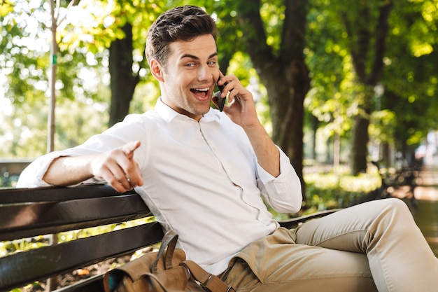
[[[104,153],[83,156],[61,156],[52,161],[43,181],[54,186],[71,186],[92,177],[104,179],[118,192],[141,186],[141,172],[134,161],[140,142],[133,141]]]

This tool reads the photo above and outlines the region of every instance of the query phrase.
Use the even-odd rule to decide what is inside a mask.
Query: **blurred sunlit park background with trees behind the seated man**
[[[438,0],[0,4],[3,188],[38,156],[153,109],[147,29],[193,4],[216,20],[220,69],[253,92],[302,178],[300,214],[400,197],[438,245]]]

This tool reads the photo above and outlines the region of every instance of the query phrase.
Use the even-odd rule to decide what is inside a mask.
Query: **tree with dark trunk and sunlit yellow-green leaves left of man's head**
[[[99,13],[94,13],[93,2],[85,2],[83,11],[93,13],[96,26],[87,23],[69,24],[64,38],[80,39],[80,35],[70,34],[69,30],[80,28],[83,34],[88,34],[88,41],[78,41],[78,46],[70,50],[87,48],[92,52],[108,50],[108,69],[110,74],[111,103],[109,108],[108,126],[118,123],[129,113],[129,104],[134,96],[136,85],[148,80],[146,74],[146,30],[159,15],[165,5],[155,1],[101,1]],[[110,11],[108,15],[107,11]]]

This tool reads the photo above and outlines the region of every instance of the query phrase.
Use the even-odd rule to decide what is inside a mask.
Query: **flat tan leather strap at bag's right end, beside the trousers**
[[[190,271],[190,274],[195,278],[195,280],[201,283],[201,286],[207,288],[206,291],[211,292],[236,292],[232,286],[228,286],[224,281],[219,279],[214,274],[210,274],[197,263],[192,260],[184,260],[180,265],[184,265]]]

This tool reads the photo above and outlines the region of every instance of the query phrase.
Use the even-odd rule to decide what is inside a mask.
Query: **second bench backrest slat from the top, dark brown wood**
[[[21,239],[152,216],[137,194],[0,205],[0,240]]]

